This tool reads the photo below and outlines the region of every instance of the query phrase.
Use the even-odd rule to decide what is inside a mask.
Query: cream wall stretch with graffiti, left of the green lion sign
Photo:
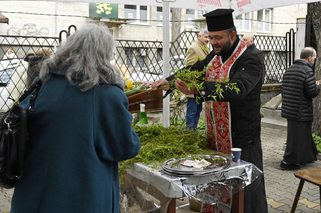
[[[77,15],[88,17],[88,3],[57,2],[58,15]],[[58,37],[61,30],[75,25],[80,28],[86,21],[82,17],[55,16],[23,13],[55,14],[55,2],[50,1],[1,1],[1,11],[21,12],[2,13],[9,18],[9,25],[0,24],[1,35]],[[18,32],[18,33],[17,33]]]

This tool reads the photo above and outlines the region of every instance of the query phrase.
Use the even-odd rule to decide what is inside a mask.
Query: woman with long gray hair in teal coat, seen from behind
[[[141,144],[124,81],[109,62],[114,49],[106,27],[87,24],[44,61],[11,213],[119,213],[118,161]]]

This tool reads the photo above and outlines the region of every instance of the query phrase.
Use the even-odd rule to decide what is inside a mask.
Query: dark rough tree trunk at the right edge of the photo
[[[321,23],[321,2],[314,2],[308,4],[312,22],[313,23]],[[321,81],[321,30],[320,24],[313,24],[314,34],[316,36],[317,49],[319,52],[317,53],[317,59],[315,64],[314,77],[316,81]],[[321,86],[321,85],[320,85]],[[316,98],[313,98],[313,123],[312,123],[312,132],[320,135],[320,127],[321,127],[321,95],[319,94]]]

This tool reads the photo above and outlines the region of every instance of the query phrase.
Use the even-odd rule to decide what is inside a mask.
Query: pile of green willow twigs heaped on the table
[[[162,125],[134,126],[139,136],[142,147],[139,154],[132,159],[119,162],[119,176],[132,163],[160,165],[170,158],[178,158],[192,154],[213,154],[206,147],[205,132],[198,130],[187,130],[186,127],[170,126],[164,128]],[[215,153],[221,155],[222,153]]]

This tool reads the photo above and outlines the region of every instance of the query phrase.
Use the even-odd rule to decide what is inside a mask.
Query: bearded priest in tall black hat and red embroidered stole
[[[224,142],[228,143],[229,148],[241,148],[241,160],[253,163],[263,171],[262,147],[261,147],[261,116],[260,116],[260,91],[262,87],[262,65],[255,53],[246,48],[244,41],[241,41],[236,33],[233,22],[232,9],[217,9],[204,14],[206,17],[209,38],[213,51],[202,61],[193,64],[191,70],[202,71],[207,65],[213,67],[207,70],[206,81],[202,81],[204,89],[198,91],[187,87],[187,82],[180,79],[176,80],[176,87],[186,95],[195,94],[202,96],[201,101],[207,101],[206,109],[206,130],[216,128],[215,134],[207,138],[210,146],[225,149]],[[188,67],[187,67],[188,68]],[[225,83],[221,83],[223,96],[221,99],[211,98],[213,91],[217,89],[212,79],[219,79],[226,76],[230,80],[228,83],[235,83],[240,89],[237,94],[235,90],[225,88]],[[169,76],[152,83],[154,90],[174,79]],[[161,87],[170,93],[169,87]],[[215,110],[221,108],[216,104],[226,104],[227,122],[216,123]],[[211,107],[213,106],[213,108]],[[222,111],[221,111],[222,112]],[[223,114],[223,113],[222,113]],[[230,116],[229,116],[230,114]],[[224,115],[225,116],[225,115]],[[220,115],[217,115],[220,117]],[[230,123],[230,125],[229,125]],[[217,130],[220,131],[217,131]],[[219,132],[226,136],[224,141],[220,141]],[[231,143],[231,144],[230,144]],[[227,150],[224,152],[230,152]],[[244,190],[244,212],[247,213],[267,213],[267,202],[265,196],[264,175],[257,177],[254,183],[245,187]]]

